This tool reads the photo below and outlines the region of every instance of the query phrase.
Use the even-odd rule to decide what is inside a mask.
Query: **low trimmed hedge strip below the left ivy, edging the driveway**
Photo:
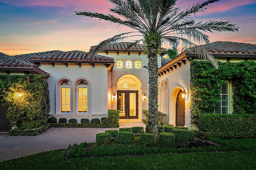
[[[42,125],[41,127],[38,127],[36,129],[26,129],[26,130],[20,130],[20,129],[13,129],[9,131],[10,136],[33,136],[33,135],[39,135],[43,131],[46,131],[50,128],[49,124]]]

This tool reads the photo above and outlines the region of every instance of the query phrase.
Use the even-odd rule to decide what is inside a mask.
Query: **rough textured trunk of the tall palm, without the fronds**
[[[148,94],[148,125],[146,133],[154,133],[158,137],[158,51],[161,41],[158,36],[148,36],[145,38],[145,44],[148,50],[148,78],[149,78],[149,94]]]

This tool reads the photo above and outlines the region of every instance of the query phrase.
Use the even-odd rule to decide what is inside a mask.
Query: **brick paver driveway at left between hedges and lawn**
[[[0,161],[38,152],[67,149],[69,145],[95,142],[96,134],[118,128],[50,128],[37,136],[0,136]]]

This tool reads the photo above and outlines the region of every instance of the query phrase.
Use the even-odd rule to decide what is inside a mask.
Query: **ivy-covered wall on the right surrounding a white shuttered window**
[[[214,114],[220,100],[220,86],[230,82],[233,92],[233,113],[256,115],[256,62],[219,62],[216,69],[208,61],[190,63],[190,114],[192,123],[199,123],[201,113]]]

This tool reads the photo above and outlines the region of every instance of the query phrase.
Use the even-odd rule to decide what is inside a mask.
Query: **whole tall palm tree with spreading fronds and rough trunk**
[[[130,48],[140,41],[144,42],[145,54],[148,57],[149,95],[148,95],[148,125],[146,131],[158,135],[158,62],[161,44],[169,43],[172,46],[181,44],[183,47],[193,47],[202,59],[209,60],[216,68],[218,63],[204,49],[195,43],[210,43],[208,35],[204,32],[238,32],[239,27],[230,21],[194,21],[191,16],[203,13],[206,7],[219,0],[205,0],[180,10],[178,0],[108,0],[112,6],[110,12],[115,14],[101,14],[90,11],[75,11],[78,16],[98,18],[108,21],[115,27],[127,26],[132,31],[120,33],[100,42],[94,49],[89,51],[91,55],[102,51],[107,45],[121,42],[126,38],[138,37],[127,47]]]

